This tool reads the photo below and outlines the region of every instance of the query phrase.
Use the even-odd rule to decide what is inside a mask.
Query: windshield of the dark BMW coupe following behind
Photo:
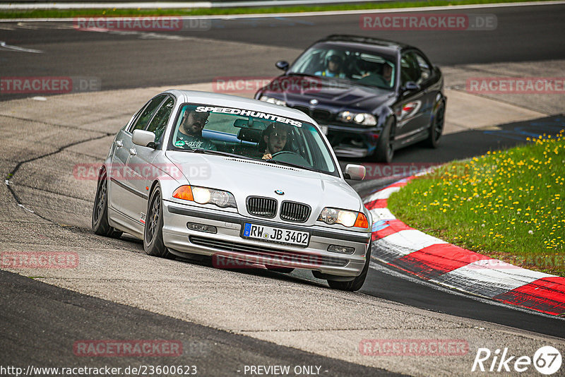
[[[332,46],[311,47],[288,73],[347,80],[385,90],[393,90],[397,74],[392,56]]]

